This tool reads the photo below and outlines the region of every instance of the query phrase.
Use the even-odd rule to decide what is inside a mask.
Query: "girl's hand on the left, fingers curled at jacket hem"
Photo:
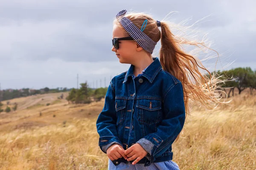
[[[120,144],[112,144],[107,150],[107,156],[111,161],[122,157],[127,159],[127,156],[125,155],[125,150]]]

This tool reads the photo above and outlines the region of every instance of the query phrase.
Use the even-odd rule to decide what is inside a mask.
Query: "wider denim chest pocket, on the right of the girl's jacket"
[[[138,120],[148,125],[160,122],[162,102],[159,99],[137,99]]]

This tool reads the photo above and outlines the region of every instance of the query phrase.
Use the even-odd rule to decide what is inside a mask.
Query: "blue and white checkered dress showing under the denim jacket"
[[[146,68],[141,72],[144,73]],[[138,76],[140,76],[139,74]],[[133,79],[135,76],[133,75]],[[153,162],[148,167],[144,167],[144,164],[125,164],[121,162],[119,165],[114,165],[113,162],[108,159],[108,170],[180,170],[179,166],[172,160],[162,161],[162,162]]]

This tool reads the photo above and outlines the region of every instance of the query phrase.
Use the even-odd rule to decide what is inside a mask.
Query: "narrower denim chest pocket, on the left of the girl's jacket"
[[[116,125],[119,125],[125,119],[125,108],[126,108],[126,100],[127,99],[116,99]]]

